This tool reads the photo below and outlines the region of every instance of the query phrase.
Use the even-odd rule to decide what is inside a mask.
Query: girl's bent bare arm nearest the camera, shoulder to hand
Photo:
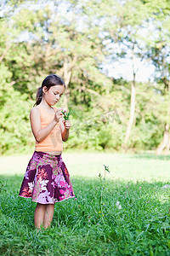
[[[56,112],[54,119],[42,129],[40,111],[38,108],[32,108],[30,113],[31,130],[37,140],[37,143],[41,143],[42,140],[48,137],[48,134],[54,129],[54,126],[59,122],[59,118],[62,117],[62,113]]]

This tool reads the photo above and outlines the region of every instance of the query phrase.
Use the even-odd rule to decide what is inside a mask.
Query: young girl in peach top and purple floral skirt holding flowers
[[[31,130],[36,139],[20,188],[20,196],[37,202],[34,224],[48,228],[54,216],[54,203],[75,197],[69,172],[61,158],[63,141],[69,137],[70,120],[64,120],[63,108],[53,108],[65,92],[65,82],[49,75],[37,90],[37,102],[31,109]]]

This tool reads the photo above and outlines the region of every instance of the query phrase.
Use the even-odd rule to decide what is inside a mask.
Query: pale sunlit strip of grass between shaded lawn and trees
[[[30,158],[31,154],[0,157],[0,175],[24,175]],[[170,155],[64,153],[63,160],[72,177],[97,177],[106,165],[111,170],[109,179],[166,182],[170,178]]]

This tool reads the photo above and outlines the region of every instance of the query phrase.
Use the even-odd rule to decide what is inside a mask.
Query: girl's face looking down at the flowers
[[[45,87],[45,86],[44,86]],[[44,100],[48,102],[48,105],[54,106],[56,102],[59,102],[60,97],[65,92],[65,86],[64,85],[54,85],[49,88],[49,90],[46,90],[46,88],[43,87],[44,92]]]

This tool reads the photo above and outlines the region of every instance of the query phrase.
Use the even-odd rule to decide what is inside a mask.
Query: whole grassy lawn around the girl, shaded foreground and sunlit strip
[[[23,175],[12,175],[10,165],[8,175],[1,171],[0,254],[170,255],[170,189],[161,189],[169,183],[169,156],[65,154],[64,159],[77,200],[56,203],[51,228],[40,232],[33,225],[36,203],[18,197]],[[111,173],[100,180],[103,164]]]

